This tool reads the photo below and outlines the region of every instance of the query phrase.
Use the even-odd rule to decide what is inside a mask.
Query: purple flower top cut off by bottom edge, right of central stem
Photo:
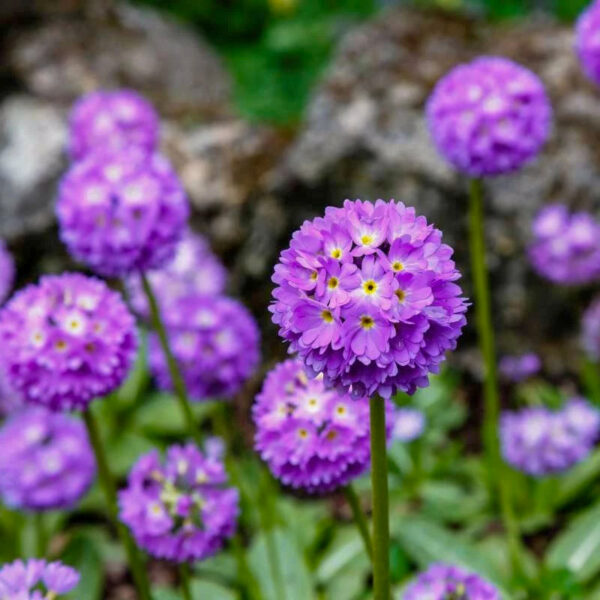
[[[500,600],[488,581],[462,567],[434,564],[411,583],[403,600]]]

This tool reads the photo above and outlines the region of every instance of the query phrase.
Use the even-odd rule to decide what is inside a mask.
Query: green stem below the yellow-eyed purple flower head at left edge
[[[91,407],[89,407],[88,410],[83,413],[83,419],[87,427],[90,443],[92,444],[94,454],[96,455],[98,479],[100,480],[100,485],[104,490],[108,514],[115,525],[119,537],[121,538],[121,543],[125,548],[127,560],[129,562],[129,568],[131,569],[131,574],[133,576],[140,600],[152,600],[152,596],[150,595],[150,584],[146,576],[145,567],[142,563],[140,553],[138,552],[138,549],[131,538],[127,527],[125,527],[125,525],[119,520],[119,508],[117,503],[115,482],[108,466],[104,445],[102,444],[98,425],[96,424],[96,420],[92,415]]]

